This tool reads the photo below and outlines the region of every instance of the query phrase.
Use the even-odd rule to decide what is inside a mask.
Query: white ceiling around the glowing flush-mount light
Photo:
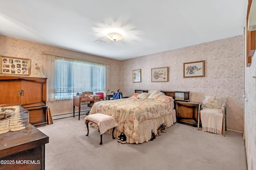
[[[247,2],[0,0],[0,34],[125,60],[242,35]],[[110,41],[108,32],[124,38]]]

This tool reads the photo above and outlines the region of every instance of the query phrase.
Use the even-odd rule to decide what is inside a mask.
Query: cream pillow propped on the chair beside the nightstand
[[[223,109],[226,99],[216,96],[205,96],[202,107],[209,109]]]

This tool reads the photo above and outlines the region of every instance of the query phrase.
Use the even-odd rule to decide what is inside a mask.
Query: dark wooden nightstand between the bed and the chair
[[[198,111],[200,111],[202,103],[180,101],[176,101],[175,103],[177,122],[198,127]]]

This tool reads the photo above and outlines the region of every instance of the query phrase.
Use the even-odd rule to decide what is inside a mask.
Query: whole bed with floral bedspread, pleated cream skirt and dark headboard
[[[142,94],[151,94],[152,90],[135,90],[135,93],[142,96]],[[172,92],[162,91],[161,93],[162,97],[174,97]],[[152,132],[156,134],[161,124],[170,127],[176,122],[174,106],[174,100],[163,102],[152,98],[124,98],[96,102],[89,114],[114,115],[118,123],[114,131],[114,137],[124,132],[127,143],[138,144],[150,141]],[[97,125],[95,124],[94,127],[97,128]]]

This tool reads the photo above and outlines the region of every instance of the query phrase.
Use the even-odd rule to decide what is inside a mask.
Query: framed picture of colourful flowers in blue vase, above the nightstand
[[[183,77],[204,77],[204,61],[183,63]]]

